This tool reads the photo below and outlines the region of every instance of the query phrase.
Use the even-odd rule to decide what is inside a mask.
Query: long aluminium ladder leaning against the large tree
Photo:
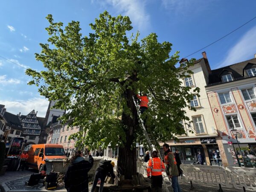
[[[146,137],[146,140],[148,141],[148,145],[149,145],[149,147],[150,147],[150,149],[151,149],[151,152],[152,152],[152,151],[157,151],[157,153],[159,154],[160,160],[163,162],[163,158],[162,158],[162,156],[161,156],[161,154],[160,154],[160,151],[159,151],[158,148],[157,148],[157,143],[156,143],[156,141],[155,141],[154,139],[150,140],[150,138],[149,138],[149,136],[148,136],[148,133],[147,133],[147,131],[146,131],[146,127],[145,127],[145,125],[144,125],[143,119],[141,119],[141,117],[140,117],[140,115],[141,115],[141,114],[140,114],[140,110],[139,110],[138,105],[137,105],[137,103],[136,103],[136,101],[135,101],[135,99],[134,99],[134,96],[132,96],[132,99],[133,99],[134,105],[135,105],[135,107],[136,107],[136,109],[137,109],[137,113],[138,113],[138,116],[139,116],[141,125],[142,125],[142,127],[143,127],[142,130],[143,130],[143,133],[144,133],[144,135],[145,135],[145,137]],[[152,135],[151,130],[149,130],[149,131],[150,131],[150,134]],[[153,149],[153,146],[152,146],[152,145],[154,146],[155,150]],[[166,192],[169,192],[168,186],[171,186],[171,185],[167,185],[167,184],[166,184],[166,181],[164,180],[164,178],[166,178],[166,177],[168,177],[168,180],[170,181],[168,175],[167,175],[167,176],[164,176],[164,175],[163,175],[163,186],[164,186],[164,189],[166,190]],[[170,183],[172,183],[172,182],[170,182]]]

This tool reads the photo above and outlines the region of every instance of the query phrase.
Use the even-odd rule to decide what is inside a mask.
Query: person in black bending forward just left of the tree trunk
[[[106,176],[108,175],[113,179],[116,177],[113,170],[114,166],[115,166],[115,163],[113,161],[102,160],[99,162],[99,167],[96,169],[94,180],[93,180],[93,186],[90,192],[94,192],[99,179],[101,182],[99,187],[99,192],[102,192],[104,188],[104,181]]]

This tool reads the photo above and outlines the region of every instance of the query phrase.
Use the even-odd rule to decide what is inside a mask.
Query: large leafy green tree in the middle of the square
[[[147,116],[154,139],[166,141],[184,134],[180,121],[189,121],[184,108],[199,92],[182,86],[182,79],[192,73],[188,67],[193,61],[175,67],[178,52],[170,56],[172,44],[158,42],[155,33],[141,41],[139,33],[127,37],[132,26],[126,16],[100,14],[90,24],[93,32],[85,37],[78,21],[63,27],[54,23],[52,15],[47,20],[49,44],[40,44],[42,51],[35,54],[46,70],[28,69],[26,74],[42,96],[58,100],[55,108],[69,111],[63,122],[71,116],[73,125],[84,128],[70,137],[77,138],[77,146],[119,145],[119,161],[125,159],[127,164],[131,157],[136,172],[134,146],[145,142],[132,100],[139,91],[148,93],[149,108],[143,117]],[[131,174],[124,173],[127,178]]]

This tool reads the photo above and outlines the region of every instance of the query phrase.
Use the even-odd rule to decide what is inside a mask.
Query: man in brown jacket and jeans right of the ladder
[[[179,171],[177,168],[177,162],[167,143],[163,145],[163,151],[165,151],[164,161],[166,163],[166,173],[169,178],[172,179],[173,192],[182,192],[178,183]]]

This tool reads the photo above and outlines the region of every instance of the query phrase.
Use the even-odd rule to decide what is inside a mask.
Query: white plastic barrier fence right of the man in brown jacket
[[[256,191],[256,169],[244,167],[224,167],[220,166],[199,166],[199,165],[180,165],[183,169],[181,181],[199,185],[219,186]]]

